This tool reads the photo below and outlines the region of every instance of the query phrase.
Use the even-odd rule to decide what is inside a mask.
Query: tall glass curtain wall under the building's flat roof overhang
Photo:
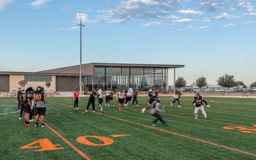
[[[138,91],[148,89],[168,90],[168,69],[153,67],[94,67],[94,76],[83,78],[85,90],[121,90],[133,88]]]

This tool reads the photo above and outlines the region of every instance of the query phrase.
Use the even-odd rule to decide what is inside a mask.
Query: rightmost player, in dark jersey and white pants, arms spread
[[[207,114],[203,107],[203,102],[207,105],[207,107],[210,107],[208,105],[207,101],[205,101],[205,99],[203,99],[203,97],[200,96],[199,93],[195,94],[194,101],[192,103],[195,106],[195,111],[194,111],[195,119],[197,119],[197,113],[198,113],[199,109],[202,111],[203,116],[205,116],[205,118],[207,118]]]

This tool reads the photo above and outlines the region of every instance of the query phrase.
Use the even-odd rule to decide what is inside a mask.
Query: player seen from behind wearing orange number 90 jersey
[[[38,86],[36,88],[34,100],[36,104],[35,127],[39,127],[38,120],[40,117],[42,123],[41,127],[48,128],[48,126],[45,125],[46,103],[48,103],[48,100],[46,98],[46,93],[44,92],[43,87]]]

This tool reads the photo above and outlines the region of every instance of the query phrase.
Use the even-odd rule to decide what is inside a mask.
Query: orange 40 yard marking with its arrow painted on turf
[[[126,137],[129,135],[110,135],[110,136],[113,138],[117,138],[117,137]],[[98,140],[103,141],[103,143],[102,144],[93,143],[92,141],[89,141],[87,138],[96,138]],[[114,143],[114,140],[108,137],[87,135],[87,136],[82,136],[77,138],[77,142],[83,145],[88,145],[88,146],[108,146],[108,145],[112,145]],[[39,145],[36,145],[36,144],[39,144]],[[64,149],[63,147],[60,147],[60,146],[61,145],[54,145],[53,143],[51,143],[51,141],[48,138],[45,138],[45,139],[33,141],[28,145],[22,146],[21,149],[40,148],[40,149],[37,149],[36,151],[51,151],[51,150]]]

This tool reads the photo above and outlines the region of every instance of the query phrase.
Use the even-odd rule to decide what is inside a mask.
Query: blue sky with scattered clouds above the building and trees
[[[176,76],[188,85],[224,74],[256,82],[253,0],[0,0],[0,70],[80,64],[77,12],[88,16],[83,64],[184,64]]]

